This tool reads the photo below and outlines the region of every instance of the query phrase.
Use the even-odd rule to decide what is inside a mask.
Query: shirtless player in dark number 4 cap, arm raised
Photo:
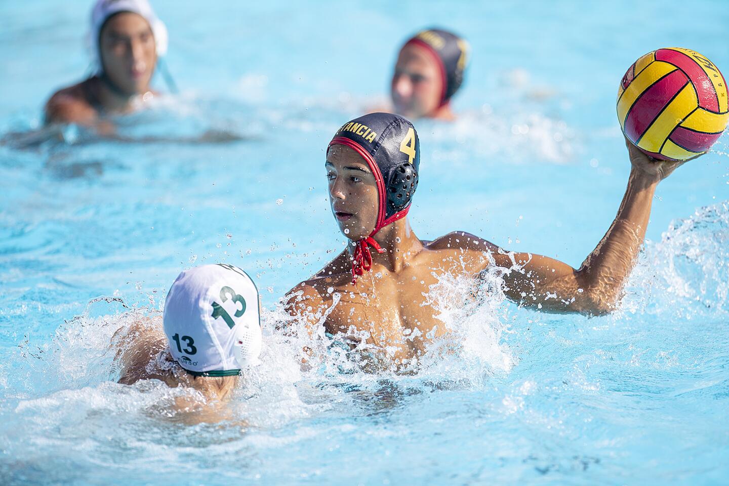
[[[372,113],[338,130],[327,149],[329,197],[345,251],[289,292],[289,313],[316,332],[364,335],[394,364],[416,360],[428,336],[446,332],[426,305],[446,274],[476,282],[489,265],[504,269],[504,292],[550,313],[601,315],[615,309],[645,236],[658,183],[682,162],[654,162],[628,143],[631,173],[604,238],[579,269],[529,253],[504,251],[465,232],[418,239],[406,217],[418,184],[420,145],[413,125]],[[339,299],[336,302],[336,299]]]

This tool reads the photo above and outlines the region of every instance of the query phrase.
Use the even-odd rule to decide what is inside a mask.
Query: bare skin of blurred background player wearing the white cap
[[[101,114],[132,111],[137,98],[152,95],[157,51],[144,17],[132,12],[112,16],[101,29],[99,51],[106,81],[90,77],[52,95],[45,107],[47,124],[77,123],[108,133],[113,128],[100,120]]]

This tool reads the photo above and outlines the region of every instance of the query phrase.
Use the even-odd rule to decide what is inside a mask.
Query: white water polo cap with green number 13
[[[184,270],[167,294],[163,321],[172,357],[193,375],[238,375],[260,363],[258,290],[238,267]]]

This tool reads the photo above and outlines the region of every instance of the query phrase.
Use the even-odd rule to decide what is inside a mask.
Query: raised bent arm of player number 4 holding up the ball
[[[626,141],[631,159],[628,188],[617,216],[579,270],[558,260],[494,251],[507,297],[553,313],[599,315],[615,310],[645,238],[655,187],[683,162],[651,160]]]

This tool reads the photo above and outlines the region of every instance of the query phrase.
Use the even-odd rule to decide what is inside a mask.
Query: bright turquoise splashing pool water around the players
[[[80,79],[89,2],[4,2],[0,137],[40,123]],[[278,299],[343,248],[324,149],[382,101],[397,46],[423,26],[469,39],[458,122],[418,121],[423,239],[451,230],[578,266],[628,175],[617,83],[639,55],[690,47],[729,71],[722,1],[394,5],[155,1],[181,88],[119,120],[112,142],[0,146],[0,474],[7,484],[725,484],[729,477],[729,157],[660,184],[620,310],[542,315],[488,282],[444,279],[452,329],[413,376],[334,348],[309,371]],[[83,28],[82,28],[83,27]],[[158,80],[161,89],[163,83]],[[264,363],[233,421],[187,426],[185,393],[112,383],[109,339],[158,313],[177,273],[255,275]],[[104,299],[98,299],[104,297]]]

